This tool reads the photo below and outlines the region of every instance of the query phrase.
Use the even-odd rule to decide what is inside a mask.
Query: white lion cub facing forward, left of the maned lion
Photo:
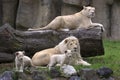
[[[24,55],[25,51],[17,51],[15,53],[15,66],[16,71],[23,72],[25,67],[31,66],[32,61],[28,56]]]

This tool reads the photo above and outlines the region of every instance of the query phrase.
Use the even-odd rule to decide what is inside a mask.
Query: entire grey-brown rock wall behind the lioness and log
[[[0,25],[9,23],[19,30],[44,27],[56,16],[79,12],[87,5],[96,8],[93,22],[104,25],[105,37],[120,40],[119,0],[1,0]]]

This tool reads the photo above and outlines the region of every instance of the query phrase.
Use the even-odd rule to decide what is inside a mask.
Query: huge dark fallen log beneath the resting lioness
[[[14,52],[18,50],[25,50],[26,55],[32,57],[35,52],[54,47],[71,35],[79,39],[83,57],[104,54],[102,31],[98,28],[67,32],[55,30],[18,31],[9,24],[5,24],[0,27],[0,63],[13,61]]]

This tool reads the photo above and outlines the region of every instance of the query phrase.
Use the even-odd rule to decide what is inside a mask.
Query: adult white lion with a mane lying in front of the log
[[[39,52],[36,52],[32,57],[32,64],[34,66],[43,66],[48,65],[50,62],[50,57],[55,54],[63,54],[66,50],[72,50],[74,60],[72,60],[72,65],[83,64],[90,65],[84,61],[80,55],[80,45],[76,37],[70,36],[62,40],[54,48],[45,49]]]

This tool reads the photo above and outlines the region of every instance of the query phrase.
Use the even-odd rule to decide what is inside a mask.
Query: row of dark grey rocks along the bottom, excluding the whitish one
[[[23,73],[15,71],[5,71],[3,74],[0,75],[0,80],[115,80],[113,77],[111,77],[112,75],[109,75],[109,77],[107,78],[100,77],[96,74],[96,70],[91,68],[81,69],[76,75],[71,75],[69,77],[64,76],[60,70],[55,70],[55,73],[47,70],[46,68]]]

